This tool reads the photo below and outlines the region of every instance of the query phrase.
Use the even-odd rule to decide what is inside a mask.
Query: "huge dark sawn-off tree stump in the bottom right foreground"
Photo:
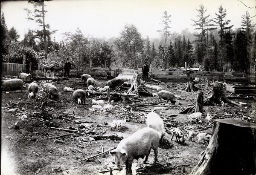
[[[256,125],[215,120],[212,139],[190,175],[255,175]]]

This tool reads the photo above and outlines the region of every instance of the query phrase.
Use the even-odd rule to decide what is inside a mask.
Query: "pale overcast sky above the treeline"
[[[247,6],[256,6],[256,0],[242,0]],[[125,23],[133,23],[143,37],[159,37],[163,12],[172,15],[171,32],[180,33],[188,28],[193,32],[192,20],[196,20],[199,5],[207,9],[206,14],[215,17],[218,7],[227,9],[227,19],[231,20],[233,29],[241,26],[241,16],[246,11],[251,16],[255,9],[245,7],[238,0],[53,0],[45,2],[48,11],[45,17],[52,30],[58,30],[53,36],[57,41],[61,33],[75,32],[79,27],[85,36],[118,37]],[[20,34],[20,40],[28,29],[38,29],[38,25],[26,19],[24,8],[32,9],[27,1],[5,1],[1,11],[4,12],[8,29],[12,26]],[[253,23],[256,17],[253,18]]]

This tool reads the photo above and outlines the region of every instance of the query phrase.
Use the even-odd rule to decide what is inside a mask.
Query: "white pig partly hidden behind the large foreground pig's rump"
[[[163,129],[163,119],[157,115],[155,112],[149,112],[146,120],[147,127],[155,129],[161,134],[160,142],[162,142],[163,136],[168,136],[168,134]]]

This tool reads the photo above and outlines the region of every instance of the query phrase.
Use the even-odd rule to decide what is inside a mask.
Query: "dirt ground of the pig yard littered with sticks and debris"
[[[96,86],[105,86],[106,81],[97,80]],[[39,81],[37,83],[41,85],[46,83],[46,81]],[[158,103],[158,99],[156,97],[141,97],[138,100],[123,98],[123,101],[111,104],[113,106],[111,113],[98,112],[91,114],[88,110],[91,107],[90,101],[96,97],[87,98],[85,105],[78,105],[72,98],[73,92],[64,92],[65,86],[75,89],[86,89],[86,86],[84,86],[80,79],[71,78],[51,83],[60,89],[61,97],[57,100],[50,100],[47,104],[48,118],[38,113],[38,102],[35,99],[27,99],[27,88],[25,92],[21,93],[6,94],[2,92],[1,174],[45,175],[59,173],[64,175],[109,175],[108,169],[112,167],[115,169],[112,172],[113,175],[124,175],[125,170],[116,170],[116,166],[113,164],[114,156],[109,155],[108,152],[96,158],[90,158],[87,161],[83,159],[102,152],[102,149],[106,151],[113,146],[117,146],[120,142],[118,138],[125,138],[138,129],[145,127],[145,115],[152,110],[153,106],[140,106],[140,104]],[[177,89],[186,86],[186,83],[166,83],[160,86],[175,93],[175,95],[180,95],[181,98],[179,100],[180,104],[176,103],[175,106],[169,105],[168,110],[157,113],[163,118],[166,128],[179,127],[187,135],[188,129],[192,126],[197,126],[197,124],[192,124],[191,126],[187,115],[179,114],[178,112],[194,104],[196,92],[185,92]],[[211,88],[206,88],[203,85],[196,86],[202,87],[204,94]],[[28,84],[26,84],[26,87],[28,87]],[[151,89],[150,91],[153,92]],[[206,97],[207,95],[204,95],[204,98]],[[22,99],[27,101],[23,100],[17,106],[17,102]],[[247,105],[242,107],[226,105],[224,109],[220,106],[204,106],[204,113],[211,114],[213,119],[236,118],[241,120],[243,115],[250,116],[252,120],[256,119],[255,97],[252,100],[235,101],[246,102]],[[7,112],[12,108],[17,108],[15,114]],[[224,114],[225,112],[226,114]],[[26,114],[27,118],[22,118],[23,114]],[[87,120],[93,123],[83,123],[85,129],[82,129],[80,122],[64,120],[61,117],[73,120]],[[113,119],[125,118],[127,123],[125,123],[123,129],[111,130],[109,123]],[[17,121],[19,122],[19,129],[13,129],[12,125]],[[49,123],[52,127],[79,129],[79,133],[86,132],[87,134],[55,138],[70,133],[49,129],[47,127]],[[199,132],[211,134],[213,123],[213,121],[210,123],[203,122],[201,126],[193,129],[197,134]],[[118,137],[97,139],[97,136],[101,135],[116,135]],[[199,144],[192,141],[179,144],[175,138],[173,141],[170,138],[166,138],[163,146],[158,148],[159,162],[153,164],[154,152],[151,150],[148,164],[142,164],[142,159],[134,160],[133,174],[188,175],[197,165],[201,152],[206,148],[207,144]]]

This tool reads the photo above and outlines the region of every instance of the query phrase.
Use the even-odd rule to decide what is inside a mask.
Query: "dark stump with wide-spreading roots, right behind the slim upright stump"
[[[223,83],[218,83],[215,81],[213,85],[212,96],[204,100],[204,105],[212,104],[212,105],[221,105],[224,107],[224,103],[234,104],[236,106],[241,106],[239,103],[229,100],[225,94],[223,89]]]

